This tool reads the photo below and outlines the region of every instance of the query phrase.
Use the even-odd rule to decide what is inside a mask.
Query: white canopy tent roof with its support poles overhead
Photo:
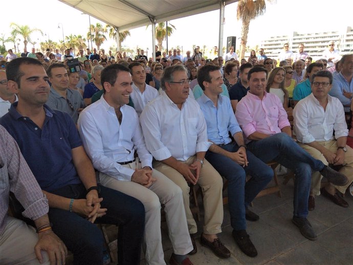
[[[89,14],[118,32],[152,25],[155,47],[156,23],[219,9],[218,53],[223,47],[224,8],[238,0],[59,0]],[[123,15],[120,15],[123,14]],[[118,42],[118,41],[117,41]],[[119,46],[119,43],[117,43]],[[120,49],[120,47],[118,47]],[[156,57],[153,49],[153,58]]]

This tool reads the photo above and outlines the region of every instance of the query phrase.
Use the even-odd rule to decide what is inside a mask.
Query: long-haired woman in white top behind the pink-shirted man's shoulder
[[[288,108],[288,91],[285,85],[285,71],[281,67],[272,70],[266,84],[266,91],[279,97],[283,107]]]

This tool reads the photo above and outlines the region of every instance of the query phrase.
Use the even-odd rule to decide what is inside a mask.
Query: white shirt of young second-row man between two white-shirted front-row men
[[[135,111],[140,117],[143,108],[147,103],[158,97],[158,90],[155,87],[152,87],[146,84],[145,91],[141,93],[139,88],[133,84],[133,92],[130,94],[131,100],[133,100]]]

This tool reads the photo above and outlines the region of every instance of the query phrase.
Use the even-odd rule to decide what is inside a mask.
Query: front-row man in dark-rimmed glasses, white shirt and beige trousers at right
[[[348,129],[343,105],[339,99],[328,95],[332,81],[332,74],[328,71],[314,74],[312,94],[300,100],[293,111],[294,130],[300,145],[325,165],[340,166],[339,172],[348,179],[344,186],[329,183],[320,189],[322,176],[320,172],[314,172],[308,200],[311,210],[315,208],[314,196],[319,195],[320,191],[337,205],[348,207],[341,194],[353,182],[353,149],[346,145]]]

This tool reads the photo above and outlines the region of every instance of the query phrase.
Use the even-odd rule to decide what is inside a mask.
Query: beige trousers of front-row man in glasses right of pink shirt
[[[318,141],[318,143],[334,153],[337,152],[336,140]],[[304,148],[308,153],[310,153],[313,158],[322,161],[322,163],[324,163],[326,166],[328,165],[327,160],[318,149],[308,146],[307,144],[300,144],[300,146]],[[342,193],[345,193],[346,189],[353,182],[353,149],[350,148],[348,145],[346,145],[346,148],[347,152],[344,154],[344,166],[340,169],[340,173],[344,174],[348,178],[349,182],[345,186],[335,186],[335,188]],[[319,171],[313,172],[311,189],[315,195],[320,195],[321,179],[322,175]]]

